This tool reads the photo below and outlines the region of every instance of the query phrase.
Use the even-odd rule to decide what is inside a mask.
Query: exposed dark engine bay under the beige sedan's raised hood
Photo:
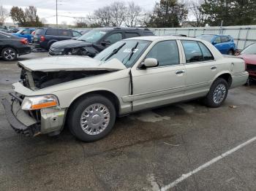
[[[21,70],[20,80],[25,87],[31,90],[38,90],[52,85],[69,82],[75,79],[91,77],[98,74],[105,74],[110,71],[27,71]]]

